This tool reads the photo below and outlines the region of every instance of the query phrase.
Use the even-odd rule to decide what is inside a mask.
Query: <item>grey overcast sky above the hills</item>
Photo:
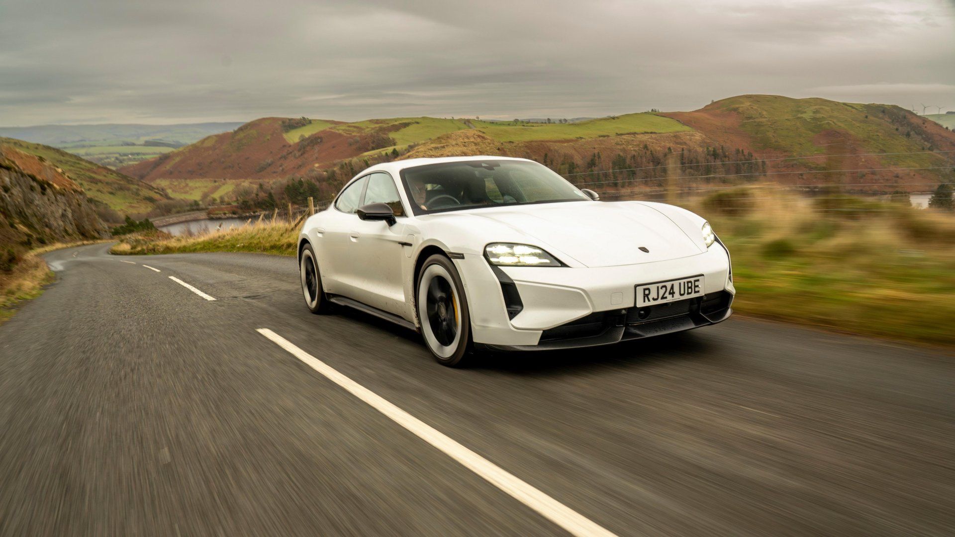
[[[955,110],[955,1],[0,0],[3,126],[572,118],[739,94]]]

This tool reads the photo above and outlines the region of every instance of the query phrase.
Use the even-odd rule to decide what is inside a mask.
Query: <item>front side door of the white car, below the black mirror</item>
[[[352,247],[356,300],[379,310],[405,313],[403,269],[405,256],[406,209],[401,204],[392,176],[375,172],[368,176],[362,204],[388,204],[394,212],[394,224],[383,220],[355,219],[349,238]]]

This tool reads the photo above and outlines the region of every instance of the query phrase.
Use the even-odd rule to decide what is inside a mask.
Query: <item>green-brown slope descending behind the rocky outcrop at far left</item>
[[[166,194],[147,183],[71,153],[24,140],[0,138],[0,144],[39,157],[60,168],[90,199],[123,214],[145,214]]]

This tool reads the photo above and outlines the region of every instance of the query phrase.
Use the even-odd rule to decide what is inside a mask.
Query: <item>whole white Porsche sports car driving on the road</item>
[[[704,219],[598,200],[524,159],[376,164],[306,220],[306,304],[419,331],[449,366],[474,349],[605,345],[730,316],[730,254]]]

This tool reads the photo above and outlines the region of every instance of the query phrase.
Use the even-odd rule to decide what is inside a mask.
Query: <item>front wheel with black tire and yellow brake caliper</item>
[[[462,367],[471,357],[471,315],[454,263],[443,255],[429,257],[415,290],[414,307],[428,350],[439,364]]]

